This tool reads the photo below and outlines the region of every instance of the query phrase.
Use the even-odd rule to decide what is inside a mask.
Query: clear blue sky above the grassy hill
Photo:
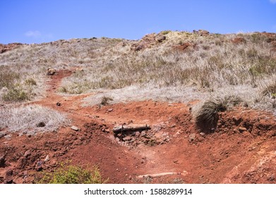
[[[0,0],[4,44],[198,29],[276,32],[276,0]]]

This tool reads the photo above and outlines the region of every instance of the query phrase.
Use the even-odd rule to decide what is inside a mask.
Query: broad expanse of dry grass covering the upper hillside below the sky
[[[68,69],[78,66],[83,71],[64,79],[59,88],[61,93],[100,91],[112,95],[113,103],[120,101],[120,97],[121,100],[152,98],[186,102],[193,98],[205,100],[213,93],[227,93],[241,96],[252,107],[263,108],[265,104],[258,104],[264,100],[273,103],[272,99],[259,96],[262,95],[260,87],[271,81],[276,71],[275,52],[270,50],[270,43],[264,35],[200,36],[169,30],[160,35],[165,35],[166,40],[152,43],[138,52],[131,50],[131,45],[138,41],[104,37],[23,45],[0,54],[0,75],[7,74],[4,78],[8,79],[0,80],[0,88],[20,84],[25,93],[31,93],[32,99],[33,93],[42,95],[40,90],[45,89],[42,84],[48,67]],[[235,37],[244,42],[234,44],[232,40]],[[175,46],[184,43],[191,46],[184,51],[175,50]],[[25,82],[25,79],[31,78],[36,85],[31,81]],[[133,88],[135,91],[132,93],[124,93]],[[98,98],[99,104],[104,96],[102,93],[90,98],[91,104],[95,103],[95,98]],[[258,104],[254,102],[256,98],[260,101]],[[265,109],[271,109],[271,105]]]

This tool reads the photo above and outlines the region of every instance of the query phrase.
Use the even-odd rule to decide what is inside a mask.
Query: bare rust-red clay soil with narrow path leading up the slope
[[[222,112],[215,132],[200,134],[190,104],[149,100],[82,107],[90,94],[56,93],[72,72],[49,76],[46,97],[33,103],[65,112],[79,131],[67,126],[1,138],[1,183],[35,182],[42,170],[54,170],[64,161],[98,165],[109,183],[276,183],[276,124],[270,113],[241,107]],[[151,129],[115,137],[112,129],[118,124]],[[165,174],[154,175],[159,173]]]

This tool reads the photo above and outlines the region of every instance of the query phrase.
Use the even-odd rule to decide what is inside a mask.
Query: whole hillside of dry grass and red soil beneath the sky
[[[275,33],[0,45],[0,182],[275,183],[275,71]]]

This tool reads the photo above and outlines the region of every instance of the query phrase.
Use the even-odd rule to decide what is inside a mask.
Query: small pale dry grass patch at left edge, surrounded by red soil
[[[0,111],[0,128],[7,128],[9,132],[53,132],[68,123],[65,115],[40,105],[6,105]]]

